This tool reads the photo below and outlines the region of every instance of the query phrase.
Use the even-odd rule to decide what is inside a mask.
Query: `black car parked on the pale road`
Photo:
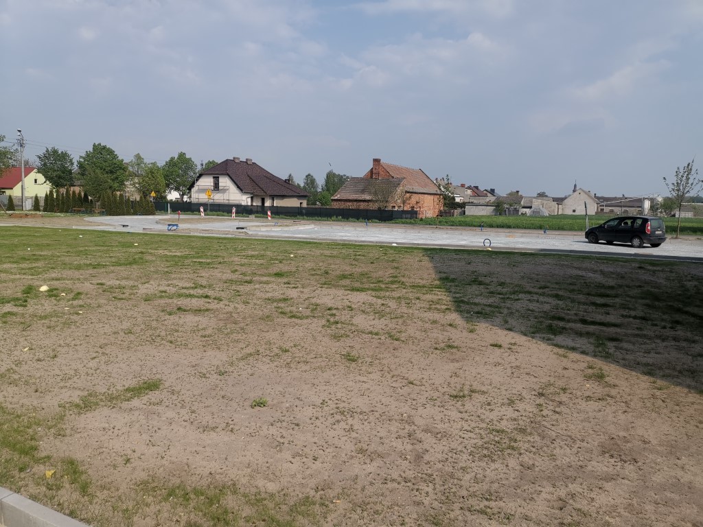
[[[664,220],[654,216],[620,216],[586,230],[591,243],[628,243],[642,247],[645,243],[659,247],[666,241]]]

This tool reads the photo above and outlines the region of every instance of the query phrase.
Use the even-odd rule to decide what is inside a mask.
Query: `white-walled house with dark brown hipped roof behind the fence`
[[[193,202],[306,207],[307,193],[290,181],[274,176],[250,159],[226,159],[200,172],[188,187]],[[210,197],[207,197],[209,190]]]

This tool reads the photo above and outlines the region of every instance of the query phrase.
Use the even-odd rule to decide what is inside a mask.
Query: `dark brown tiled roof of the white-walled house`
[[[229,176],[231,180],[234,181],[235,185],[242,190],[242,192],[257,196],[268,195],[307,197],[308,195],[302,188],[299,188],[292,183],[287,183],[278,176],[274,176],[271,172],[263,167],[260,167],[254,162],[227,159],[214,165],[214,167],[210,167],[209,169],[200,172],[198,178],[205,174],[209,176]],[[194,185],[195,182],[191,183],[190,188],[193,188]]]

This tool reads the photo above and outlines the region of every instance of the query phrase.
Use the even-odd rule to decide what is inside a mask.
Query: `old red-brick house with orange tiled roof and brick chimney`
[[[351,178],[332,197],[340,209],[416,210],[420,218],[434,218],[444,195],[422,169],[401,167],[374,159],[361,178]]]

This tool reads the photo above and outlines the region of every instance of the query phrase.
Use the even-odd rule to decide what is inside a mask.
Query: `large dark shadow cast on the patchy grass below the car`
[[[703,266],[428,250],[467,321],[703,393]]]

